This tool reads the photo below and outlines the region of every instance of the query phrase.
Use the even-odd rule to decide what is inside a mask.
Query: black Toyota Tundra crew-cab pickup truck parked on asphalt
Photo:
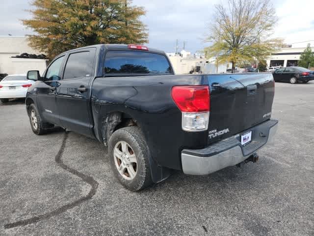
[[[146,46],[78,48],[27,79],[36,81],[26,94],[33,132],[57,125],[96,138],[133,191],[172,170],[207,175],[256,162],[277,129],[272,74],[174,75],[165,53]]]

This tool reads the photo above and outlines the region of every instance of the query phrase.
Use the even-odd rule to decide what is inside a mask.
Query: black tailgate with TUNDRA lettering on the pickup
[[[272,74],[208,75],[208,143],[249,130],[270,118],[275,84]]]

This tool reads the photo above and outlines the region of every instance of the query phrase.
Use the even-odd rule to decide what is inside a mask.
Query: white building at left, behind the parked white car
[[[12,58],[22,53],[42,54],[29,47],[24,36],[0,36],[0,74],[26,74],[28,70],[44,72],[47,59]]]

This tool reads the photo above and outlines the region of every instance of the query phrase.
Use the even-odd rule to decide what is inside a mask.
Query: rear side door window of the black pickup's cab
[[[88,77],[92,74],[94,51],[72,53],[65,65],[63,79]]]

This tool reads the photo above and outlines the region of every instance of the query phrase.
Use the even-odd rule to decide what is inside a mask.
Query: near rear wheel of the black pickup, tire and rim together
[[[109,139],[108,155],[115,177],[127,189],[138,191],[152,184],[150,152],[139,127],[116,130]]]

